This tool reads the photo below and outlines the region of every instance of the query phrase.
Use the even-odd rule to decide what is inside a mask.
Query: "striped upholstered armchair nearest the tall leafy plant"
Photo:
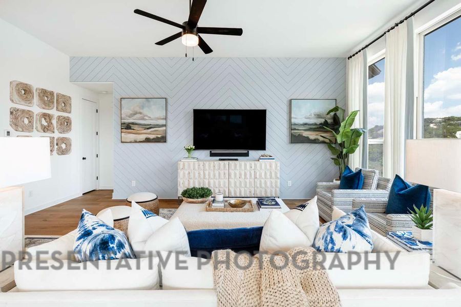
[[[362,174],[364,181],[361,190],[340,190],[339,182],[317,183],[317,204],[323,220],[331,221],[333,206],[346,213],[352,211],[353,199],[386,199],[387,204],[392,180],[380,177],[379,171],[375,169],[362,169]]]

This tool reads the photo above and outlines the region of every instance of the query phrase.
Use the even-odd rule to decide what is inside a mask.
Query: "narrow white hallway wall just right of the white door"
[[[114,102],[112,94],[100,94],[99,117],[99,189],[114,187]]]

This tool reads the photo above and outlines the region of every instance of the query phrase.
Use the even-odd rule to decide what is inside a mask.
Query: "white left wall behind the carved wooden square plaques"
[[[9,125],[10,107],[31,109],[39,112],[37,106],[27,107],[10,102],[10,81],[19,80],[32,84],[34,87],[43,87],[48,90],[66,94],[72,97],[72,132],[68,136],[72,139],[72,153],[69,156],[51,156],[52,178],[25,185],[26,214],[53,206],[63,201],[81,195],[80,180],[80,101],[86,98],[98,101],[98,95],[69,82],[69,56],[52,48],[43,41],[0,19],[0,132],[12,130],[12,136],[32,135],[54,136],[34,131],[33,133],[17,133]],[[50,110],[56,114],[56,111]],[[64,136],[64,135],[63,135]],[[1,159],[0,151],[0,159]],[[32,196],[29,196],[32,193]]]

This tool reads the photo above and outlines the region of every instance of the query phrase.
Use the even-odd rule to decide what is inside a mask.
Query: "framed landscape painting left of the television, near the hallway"
[[[166,98],[120,98],[122,143],[166,143]]]

